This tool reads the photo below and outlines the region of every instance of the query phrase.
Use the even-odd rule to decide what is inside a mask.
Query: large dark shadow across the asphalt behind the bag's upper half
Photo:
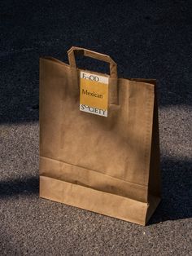
[[[190,1],[2,1],[1,121],[38,119],[30,110],[38,103],[39,57],[68,62],[71,46],[110,55],[120,77],[155,77],[160,104],[191,105],[191,6]],[[88,59],[81,63],[98,66]]]

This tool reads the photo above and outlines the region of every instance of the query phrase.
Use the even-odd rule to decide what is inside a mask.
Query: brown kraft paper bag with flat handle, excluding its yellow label
[[[80,111],[74,51],[110,64],[89,72],[107,77],[107,117]],[[68,60],[40,59],[40,196],[145,225],[160,201],[155,80],[117,78],[109,56],[78,47]]]

